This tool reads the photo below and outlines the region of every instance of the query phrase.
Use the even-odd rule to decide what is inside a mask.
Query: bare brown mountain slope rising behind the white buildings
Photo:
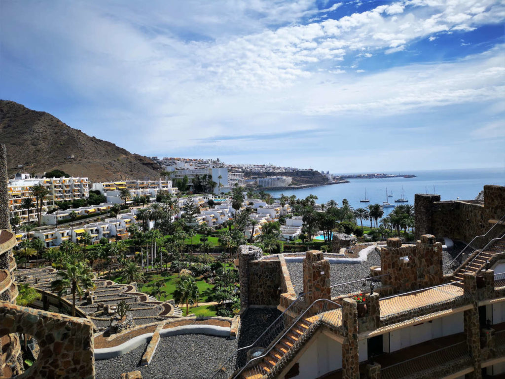
[[[7,146],[10,176],[53,169],[91,181],[156,179],[161,169],[147,157],[90,137],[56,117],[0,100],[0,141]]]

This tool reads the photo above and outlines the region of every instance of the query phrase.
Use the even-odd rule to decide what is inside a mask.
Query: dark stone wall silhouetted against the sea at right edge
[[[440,201],[439,195],[416,194],[415,208],[416,239],[421,234],[434,234],[469,243],[476,235],[486,233],[491,227],[489,220],[505,215],[505,187],[484,185],[484,203]],[[482,248],[486,242],[476,241],[475,248]]]

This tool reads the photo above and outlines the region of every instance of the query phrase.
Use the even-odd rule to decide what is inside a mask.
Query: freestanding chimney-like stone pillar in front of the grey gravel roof
[[[304,259],[304,293],[307,304],[318,299],[331,299],[330,262],[323,252],[309,250]]]

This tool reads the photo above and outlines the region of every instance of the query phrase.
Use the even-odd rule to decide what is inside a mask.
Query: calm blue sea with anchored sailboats
[[[387,172],[391,173],[392,172]],[[366,208],[368,204],[388,201],[393,205],[414,204],[415,194],[437,194],[441,200],[473,200],[484,189],[485,184],[505,185],[504,168],[460,169],[460,170],[429,170],[394,173],[400,175],[414,174],[416,177],[381,178],[381,179],[347,179],[349,183],[330,184],[312,188],[284,189],[282,191],[268,191],[273,197],[281,194],[295,195],[306,198],[310,194],[318,197],[318,204],[333,199],[339,205],[342,199],[347,199],[349,205],[356,208]],[[386,189],[392,197],[386,198]],[[365,199],[365,190],[370,203],[361,203]],[[394,203],[402,197],[408,203]],[[384,208],[384,215],[393,208]]]

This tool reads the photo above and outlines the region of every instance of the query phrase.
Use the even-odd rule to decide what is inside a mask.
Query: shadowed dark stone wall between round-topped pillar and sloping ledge
[[[281,295],[281,264],[276,260],[249,262],[249,305],[279,305]],[[240,288],[240,291],[243,291]]]

